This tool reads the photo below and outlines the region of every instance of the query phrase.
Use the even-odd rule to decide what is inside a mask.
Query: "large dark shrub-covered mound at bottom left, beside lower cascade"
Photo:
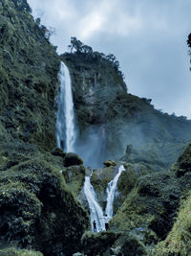
[[[24,143],[10,144],[8,149],[2,147],[1,157],[20,160],[0,178],[0,244],[17,241],[44,255],[79,251],[89,218],[60,174],[63,158]]]

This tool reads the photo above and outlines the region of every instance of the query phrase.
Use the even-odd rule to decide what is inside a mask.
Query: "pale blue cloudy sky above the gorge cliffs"
[[[191,0],[28,0],[34,18],[53,27],[62,54],[76,36],[114,54],[128,92],[155,108],[191,119],[191,71],[186,44]]]

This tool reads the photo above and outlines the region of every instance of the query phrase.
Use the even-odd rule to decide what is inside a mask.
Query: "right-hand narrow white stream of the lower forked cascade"
[[[114,204],[114,198],[115,198],[115,193],[117,191],[117,181],[121,173],[125,171],[124,166],[121,165],[118,168],[117,175],[114,177],[113,180],[111,180],[108,183],[108,187],[106,190],[107,193],[107,204],[106,204],[106,209],[105,209],[105,214],[107,214],[108,218],[111,219],[113,217],[113,204]]]

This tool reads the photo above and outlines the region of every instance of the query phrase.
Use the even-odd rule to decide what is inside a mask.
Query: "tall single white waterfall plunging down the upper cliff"
[[[63,62],[60,65],[58,79],[60,85],[56,121],[57,147],[69,152],[74,151],[74,103],[70,73]]]

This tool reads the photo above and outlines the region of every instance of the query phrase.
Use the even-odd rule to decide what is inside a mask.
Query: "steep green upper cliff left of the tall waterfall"
[[[0,1],[0,121],[13,138],[51,149],[60,61],[25,2]]]

